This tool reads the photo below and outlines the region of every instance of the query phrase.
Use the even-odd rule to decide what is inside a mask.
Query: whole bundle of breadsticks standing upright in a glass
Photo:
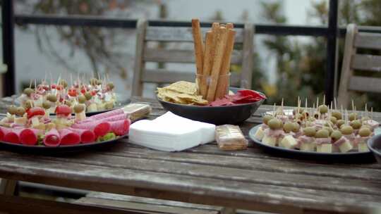
[[[229,89],[230,59],[236,36],[234,25],[213,23],[212,29],[206,32],[204,44],[200,20],[193,19],[192,33],[198,93],[210,102],[220,99],[228,93]]]

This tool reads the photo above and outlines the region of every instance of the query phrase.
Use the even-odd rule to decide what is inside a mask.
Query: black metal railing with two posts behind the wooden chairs
[[[294,26],[294,25],[253,25],[255,34],[272,35],[298,35],[311,37],[325,37],[327,39],[327,64],[325,74],[326,101],[332,101],[337,83],[337,38],[345,35],[345,28],[337,26],[338,0],[329,0],[328,25],[322,27]],[[113,27],[113,28],[135,28],[137,20],[125,18],[102,18],[83,15],[15,15],[13,13],[13,0],[2,1],[3,20],[3,61],[8,65],[8,72],[4,74],[4,95],[10,96],[16,92],[15,87],[15,51],[14,51],[14,25],[72,25],[88,27]],[[202,23],[209,27],[212,23]],[[188,27],[191,22],[171,20],[149,20],[150,26],[173,26]],[[235,23],[236,27],[243,27],[243,23]],[[372,27],[365,31],[380,32]]]

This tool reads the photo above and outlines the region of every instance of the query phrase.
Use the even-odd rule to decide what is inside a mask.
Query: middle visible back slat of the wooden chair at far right
[[[356,54],[352,56],[351,68],[381,72],[381,56]]]

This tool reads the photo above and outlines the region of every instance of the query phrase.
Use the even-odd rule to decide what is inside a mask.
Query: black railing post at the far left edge
[[[15,94],[15,41],[14,41],[14,18],[13,0],[1,1],[1,20],[3,22],[3,63],[8,66],[8,70],[2,76],[3,94],[11,96]]]

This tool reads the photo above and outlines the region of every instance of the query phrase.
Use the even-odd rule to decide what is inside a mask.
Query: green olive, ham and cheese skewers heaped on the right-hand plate
[[[292,115],[286,115],[282,106],[271,115],[263,117],[263,124],[255,132],[255,138],[269,146],[279,146],[286,149],[315,151],[319,153],[346,153],[351,151],[366,152],[367,141],[375,134],[379,123],[373,120],[373,108],[369,116],[365,105],[365,115],[358,115],[352,101],[352,111],[337,109],[336,99],[334,108],[323,103],[316,108],[298,107]]]

